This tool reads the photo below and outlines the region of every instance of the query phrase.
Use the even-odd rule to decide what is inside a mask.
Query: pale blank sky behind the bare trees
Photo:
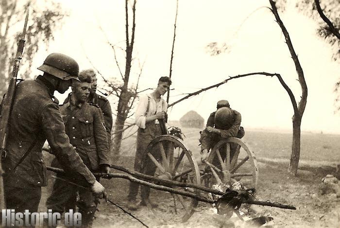
[[[119,79],[108,41],[124,49],[125,1],[57,2],[69,17],[55,32],[48,51],[37,54],[34,64],[40,65],[48,53],[65,53],[77,60],[81,70],[92,68],[93,64],[106,79]],[[336,94],[333,92],[340,78],[339,62],[332,61],[332,48],[316,35],[317,24],[297,12],[294,2],[287,0],[286,11],[280,12],[280,17],[298,54],[308,87],[301,128],[340,134],[340,114],[334,114]],[[285,37],[271,11],[263,6],[270,6],[269,1],[179,0],[170,103],[183,97],[183,93],[250,72],[280,73],[295,99],[300,99],[301,88]],[[137,1],[134,68],[129,85],[136,84],[143,63],[140,90],[155,88],[159,77],[169,75],[175,12],[175,0]],[[226,43],[228,49],[211,56],[206,51],[211,42]],[[116,53],[124,72],[124,52],[118,48]],[[99,87],[104,87],[101,78]],[[63,100],[65,96],[58,94],[57,98]],[[114,99],[108,99],[115,107]],[[174,105],[168,110],[169,119],[179,120],[195,110],[206,120],[222,99],[242,114],[241,125],[245,127],[291,130],[293,108],[287,92],[277,78],[263,75],[231,80]]]

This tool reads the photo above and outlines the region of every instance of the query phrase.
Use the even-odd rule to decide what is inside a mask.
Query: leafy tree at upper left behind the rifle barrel
[[[20,2],[20,1],[19,1]],[[41,7],[36,7],[36,1],[30,3],[30,20],[27,27],[25,51],[23,53],[22,66],[20,67],[20,77],[29,78],[31,76],[31,66],[34,54],[39,47],[53,40],[53,32],[62,24],[66,16],[62,13],[60,4],[46,3]],[[22,2],[20,2],[22,3]],[[24,20],[24,12],[27,4],[19,4],[18,0],[1,0],[0,2],[0,96],[5,92],[13,65],[19,30],[17,29]]]

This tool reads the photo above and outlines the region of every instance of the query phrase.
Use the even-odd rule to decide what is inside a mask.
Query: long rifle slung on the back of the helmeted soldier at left
[[[16,95],[16,86],[17,86],[17,72],[19,71],[20,61],[22,59],[22,52],[25,46],[25,35],[26,35],[26,27],[28,21],[29,9],[27,8],[26,18],[24,29],[22,31],[21,38],[17,45],[17,55],[13,66],[12,77],[8,84],[7,93],[4,95],[3,100],[1,102],[1,115],[0,115],[0,146],[1,146],[1,158],[6,157],[6,146],[7,146],[7,135],[8,135],[8,126],[9,120],[12,112],[13,101]],[[3,181],[2,181],[2,165],[0,162],[0,209],[5,208],[5,202],[3,199]]]

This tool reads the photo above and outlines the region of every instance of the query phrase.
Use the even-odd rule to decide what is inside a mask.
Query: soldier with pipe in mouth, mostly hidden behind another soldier
[[[109,140],[109,144],[111,144],[111,129],[112,129],[112,111],[109,101],[96,93],[97,90],[97,78],[96,73],[92,69],[82,70],[79,73],[79,77],[87,77],[90,76],[92,78],[91,91],[90,95],[87,98],[87,102],[90,104],[98,105],[102,109],[102,114],[104,116],[105,128],[107,132],[107,139]],[[68,97],[64,101],[64,104],[68,103],[69,98],[71,97],[71,93],[68,94]]]

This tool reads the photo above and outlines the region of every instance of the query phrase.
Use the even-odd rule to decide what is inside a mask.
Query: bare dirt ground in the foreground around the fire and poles
[[[131,157],[121,157],[119,165],[131,168]],[[258,215],[269,215],[274,218],[270,224],[272,227],[340,227],[340,198],[332,198],[329,195],[318,196],[318,185],[322,177],[334,172],[334,168],[323,166],[320,168],[302,166],[299,175],[289,177],[286,172],[287,164],[274,161],[259,161],[259,186],[257,190],[258,200],[270,200],[296,206],[297,210],[283,210],[270,207],[252,206]],[[126,208],[126,195],[129,182],[124,179],[102,180],[108,190],[110,198]],[[51,183],[50,183],[51,185]],[[44,188],[43,200],[49,188]],[[167,207],[169,202],[162,199],[165,194],[152,191],[152,199]],[[169,204],[170,205],[170,204]],[[43,206],[43,202],[41,203]],[[43,209],[43,207],[41,207]],[[146,223],[149,227],[220,227],[223,217],[213,214],[213,209],[205,203],[200,203],[193,216],[181,223],[178,216],[156,211],[155,215],[146,207],[141,207],[133,214]],[[160,219],[160,217],[163,218]],[[95,228],[106,227],[142,227],[140,223],[115,206],[101,202],[96,213]]]

